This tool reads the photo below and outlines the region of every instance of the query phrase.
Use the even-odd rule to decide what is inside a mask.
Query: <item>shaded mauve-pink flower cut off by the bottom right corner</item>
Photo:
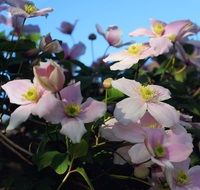
[[[173,181],[170,184],[173,190],[199,190],[200,166],[189,169],[190,159],[180,163],[173,163]]]

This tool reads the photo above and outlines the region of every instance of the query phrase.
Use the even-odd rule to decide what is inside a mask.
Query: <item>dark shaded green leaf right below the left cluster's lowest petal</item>
[[[88,152],[88,144],[82,139],[80,143],[71,144],[69,152],[74,159],[83,157]]]

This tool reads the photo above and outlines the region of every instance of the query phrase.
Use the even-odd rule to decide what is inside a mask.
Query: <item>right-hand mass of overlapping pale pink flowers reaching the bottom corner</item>
[[[112,86],[127,95],[116,104],[114,118],[100,128],[105,139],[124,142],[116,150],[114,163],[131,162],[143,168],[144,172],[140,173],[156,166],[172,190],[200,189],[200,184],[195,182],[200,167],[188,171],[187,164],[186,169],[181,168],[193,151],[193,139],[182,126],[180,113],[163,102],[171,98],[170,91],[126,78],[113,80]],[[158,181],[152,182],[155,189]]]

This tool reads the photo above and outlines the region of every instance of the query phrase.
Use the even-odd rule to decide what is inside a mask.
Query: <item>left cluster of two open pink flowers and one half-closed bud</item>
[[[53,124],[61,123],[60,132],[73,143],[80,142],[86,132],[84,123],[103,116],[106,111],[105,103],[92,98],[82,103],[80,82],[63,88],[64,70],[52,60],[41,62],[33,70],[33,83],[19,79],[2,85],[10,102],[19,105],[11,114],[7,130],[20,126],[33,114]]]

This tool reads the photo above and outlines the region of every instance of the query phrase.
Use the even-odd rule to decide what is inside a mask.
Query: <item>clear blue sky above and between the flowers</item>
[[[199,0],[33,0],[38,8],[52,7],[54,12],[45,19],[32,18],[28,23],[39,24],[43,35],[51,33],[53,38],[67,42],[72,41],[69,36],[60,33],[57,28],[62,21],[74,22],[79,20],[73,35],[76,40],[87,46],[87,51],[81,61],[91,64],[91,47],[88,35],[96,33],[95,24],[103,28],[118,25],[123,30],[123,41],[132,40],[128,33],[138,27],[149,27],[149,19],[156,18],[165,22],[177,19],[190,19],[200,24]],[[97,33],[96,33],[97,34]],[[101,56],[107,47],[106,41],[97,36],[94,42],[95,57]],[[111,48],[109,52],[117,51]]]

